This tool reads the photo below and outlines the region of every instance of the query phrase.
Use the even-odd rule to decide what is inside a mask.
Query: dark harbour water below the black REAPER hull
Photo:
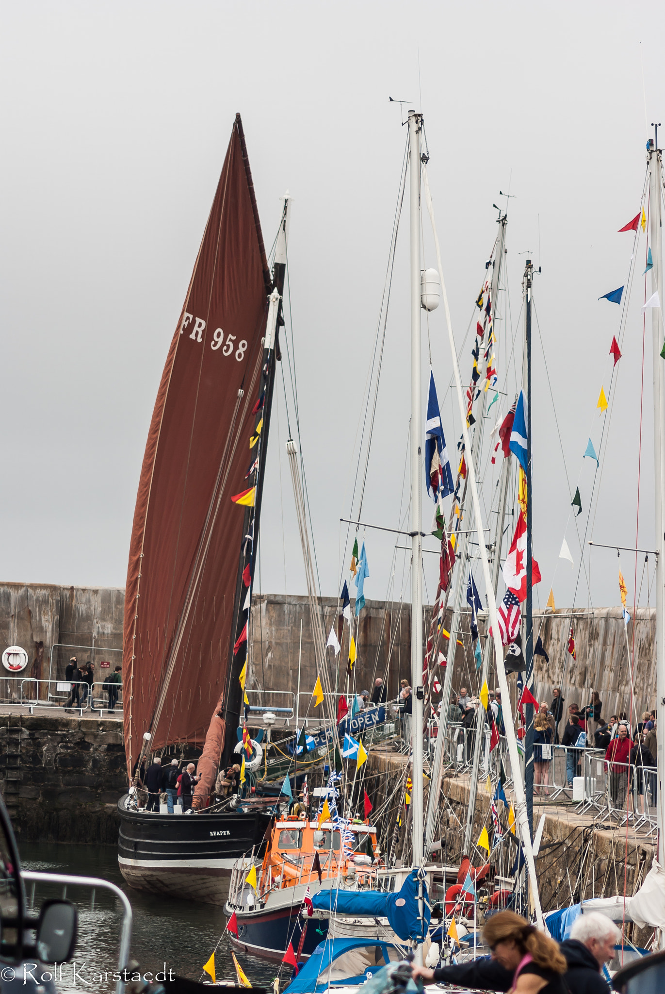
[[[215,953],[217,980],[235,981],[236,971],[231,944],[224,934],[226,916],[220,907],[169,900],[127,888],[118,870],[112,846],[68,846],[24,843],[19,846],[24,869],[52,873],[71,873],[83,877],[101,877],[120,887],[128,896],[134,912],[131,956],[141,972],[156,973],[165,968],[190,980],[209,980],[203,971],[212,951]],[[62,888],[38,885],[27,897],[36,911],[46,898],[62,897]],[[67,898],[79,906],[79,941],[73,963],[59,969],[58,989],[64,991],[99,991],[111,994],[115,989],[112,973],[117,969],[122,913],[119,902],[108,892],[97,891],[93,902],[89,891],[68,889]],[[218,944],[219,943],[219,944]],[[281,989],[288,982],[290,968],[268,963],[253,956],[241,955],[241,965],[249,981],[267,987],[280,974]],[[101,976],[99,976],[101,974]]]

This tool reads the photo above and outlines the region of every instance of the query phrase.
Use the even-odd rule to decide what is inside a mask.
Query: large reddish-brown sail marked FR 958
[[[270,276],[240,115],[152,415],[123,631],[131,775],[150,750],[202,744],[225,689]]]

